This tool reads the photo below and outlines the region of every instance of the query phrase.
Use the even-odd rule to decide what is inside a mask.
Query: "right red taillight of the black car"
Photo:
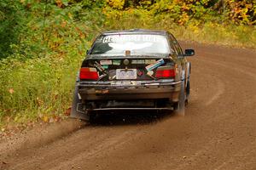
[[[175,76],[176,72],[172,66],[160,66],[155,72],[156,78],[174,78]]]

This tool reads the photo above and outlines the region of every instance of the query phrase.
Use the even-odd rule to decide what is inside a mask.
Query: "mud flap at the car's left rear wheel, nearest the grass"
[[[80,103],[79,87],[76,85],[75,89],[74,89],[74,92],[73,92],[73,103],[72,103],[70,117],[71,118],[76,118],[76,119],[82,119],[84,121],[89,121],[90,117],[89,117],[88,114],[78,111],[79,103]]]

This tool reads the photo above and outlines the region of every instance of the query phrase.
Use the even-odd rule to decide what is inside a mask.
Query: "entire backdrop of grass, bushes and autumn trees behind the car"
[[[93,38],[131,28],[256,48],[256,0],[1,0],[0,130],[66,117]]]

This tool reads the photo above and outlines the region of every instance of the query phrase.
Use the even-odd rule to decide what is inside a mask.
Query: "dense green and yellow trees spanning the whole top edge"
[[[104,17],[100,12],[96,13],[95,8],[103,10],[107,20],[104,21]],[[148,17],[143,16],[143,13],[148,13],[152,18],[169,20],[183,26],[191,20],[195,23],[211,21],[247,26],[256,24],[256,0],[2,0],[0,59],[14,53],[17,50],[14,49],[15,45],[27,37],[27,33],[34,38],[32,34],[37,35],[36,31],[49,31],[53,29],[49,24],[53,26],[61,20],[68,20],[68,16],[72,15],[76,21],[94,20],[97,25],[103,22],[108,25],[108,20],[118,20],[124,13],[129,17],[127,11],[130,14],[135,12],[140,17]],[[41,29],[35,28],[38,25]],[[28,31],[31,29],[34,32]],[[46,40],[49,34],[43,32],[43,37]],[[35,48],[35,44],[28,45]],[[27,50],[24,48],[24,44],[22,48],[19,47],[20,52]]]

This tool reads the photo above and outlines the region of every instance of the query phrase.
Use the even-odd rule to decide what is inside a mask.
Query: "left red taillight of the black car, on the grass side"
[[[98,80],[99,74],[96,68],[82,67],[80,69],[80,80]]]

